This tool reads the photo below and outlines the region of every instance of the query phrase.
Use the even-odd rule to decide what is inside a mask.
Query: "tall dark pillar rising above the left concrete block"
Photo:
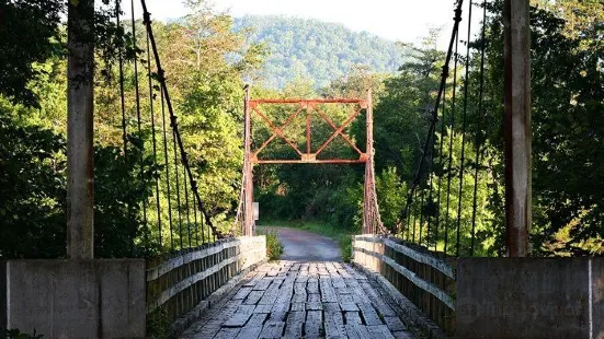
[[[94,1],[68,1],[67,256],[94,256]]]

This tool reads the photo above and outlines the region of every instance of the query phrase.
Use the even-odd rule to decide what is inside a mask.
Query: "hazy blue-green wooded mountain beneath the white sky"
[[[251,30],[248,43],[263,43],[270,50],[261,75],[265,85],[282,89],[297,77],[317,87],[349,73],[354,66],[394,72],[402,63],[395,42],[342,24],[290,16],[247,15],[235,19],[235,30]]]

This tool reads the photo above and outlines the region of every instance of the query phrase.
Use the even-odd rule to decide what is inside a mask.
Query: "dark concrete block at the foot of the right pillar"
[[[604,338],[603,262],[604,258],[459,259],[456,337]]]

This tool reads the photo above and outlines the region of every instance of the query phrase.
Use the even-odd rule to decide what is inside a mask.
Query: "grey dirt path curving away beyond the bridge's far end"
[[[338,243],[316,233],[289,229],[265,227],[278,233],[283,243],[282,260],[293,261],[341,261]]]

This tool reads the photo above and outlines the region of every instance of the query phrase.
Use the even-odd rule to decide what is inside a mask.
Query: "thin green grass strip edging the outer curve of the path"
[[[342,259],[346,262],[350,262],[352,254],[352,232],[343,230],[341,227],[334,227],[333,225],[314,220],[288,220],[288,221],[271,221],[263,222],[265,225],[280,226],[280,227],[290,227],[304,230],[312,233],[317,233],[327,237],[334,239],[340,246],[340,252],[342,253]]]

